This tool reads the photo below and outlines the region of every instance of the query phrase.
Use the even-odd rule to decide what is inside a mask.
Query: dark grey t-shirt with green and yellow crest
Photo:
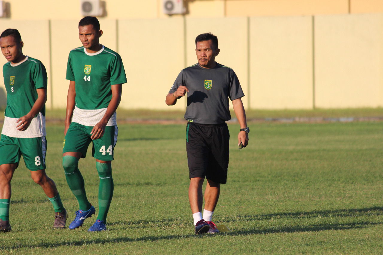
[[[169,93],[180,86],[189,90],[184,118],[199,124],[222,124],[230,120],[229,98],[235,100],[244,96],[234,71],[218,63],[211,69],[199,64],[183,69]]]

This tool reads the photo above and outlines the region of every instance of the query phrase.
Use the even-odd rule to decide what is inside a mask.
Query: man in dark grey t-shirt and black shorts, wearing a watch
[[[211,221],[218,203],[220,184],[226,183],[229,166],[229,99],[241,129],[238,145],[246,147],[249,127],[241,97],[244,96],[234,71],[215,62],[218,38],[211,33],[195,39],[198,64],[183,69],[166,96],[167,105],[175,105],[187,92],[185,119],[186,150],[189,167],[189,202],[195,233],[217,233]],[[202,217],[202,185],[207,179]]]

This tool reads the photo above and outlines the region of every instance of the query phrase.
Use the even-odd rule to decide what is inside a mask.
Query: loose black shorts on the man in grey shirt
[[[229,167],[229,129],[226,123],[206,125],[188,122],[186,152],[189,178],[202,177],[226,183]]]

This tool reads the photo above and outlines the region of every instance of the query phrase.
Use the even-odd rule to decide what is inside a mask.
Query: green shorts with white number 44
[[[65,152],[81,152],[82,158],[87,155],[90,142],[93,142],[92,156],[98,160],[113,160],[113,152],[117,142],[118,128],[115,126],[105,127],[103,137],[96,140],[90,139],[90,132],[93,127],[84,126],[79,123],[72,122],[65,135],[62,153]]]

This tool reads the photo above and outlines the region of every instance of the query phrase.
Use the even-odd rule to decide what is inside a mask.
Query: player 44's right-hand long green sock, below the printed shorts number
[[[100,186],[98,186],[98,216],[97,219],[106,223],[110,202],[113,197],[112,165],[96,162]]]

